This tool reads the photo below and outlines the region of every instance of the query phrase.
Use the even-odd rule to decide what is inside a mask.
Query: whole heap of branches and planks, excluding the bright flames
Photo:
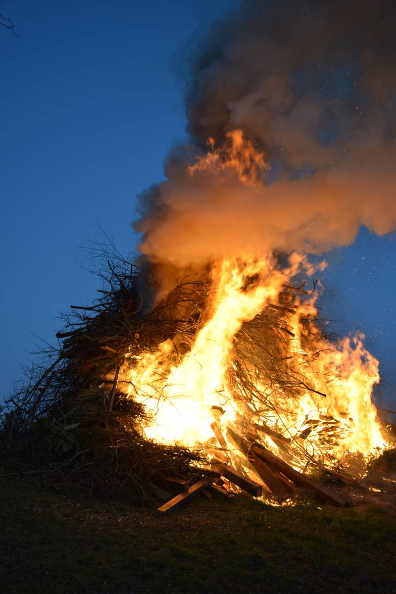
[[[144,285],[146,274],[109,245],[101,247],[99,255],[103,286],[98,297],[90,305],[71,306],[57,334],[58,345],[42,350],[41,362],[25,370],[25,380],[8,399],[0,430],[4,472],[36,472],[56,489],[67,482],[84,492],[135,501],[158,497],[169,501],[172,494],[164,481],[190,484],[197,473],[202,475],[198,490],[210,485],[229,494],[218,481],[226,478],[230,485],[245,488],[249,465],[264,485],[270,482],[269,492],[275,497],[293,495],[299,481],[306,484],[306,479],[296,482],[295,474],[290,478],[289,470],[280,470],[273,458],[265,457],[260,435],[269,435],[287,450],[290,461],[297,456],[305,467],[312,463],[317,469],[319,456],[309,450],[307,436],[299,435],[291,443],[285,437],[287,431],[277,432],[265,424],[262,413],[276,409],[277,393],[292,399],[310,389],[284,353],[292,334],[287,316],[293,312],[294,296],[309,298],[311,293],[303,287],[285,287],[281,305],[270,305],[237,334],[227,381],[239,400],[239,410],[245,407],[246,414],[237,429],[227,429],[227,443],[235,448],[224,458],[225,442],[216,420],[213,443],[204,449],[145,438],[144,427],[153,419],[144,405],[128,396],[131,386],[122,378],[127,354],[132,361],[142,353],[157,352],[167,339],[175,348],[166,365],[182,359],[205,321],[211,282],[205,277],[183,277],[163,302],[153,306]],[[258,375],[273,387],[272,398],[258,393]],[[215,466],[205,474],[206,454]],[[205,481],[210,483],[205,486]],[[317,494],[318,486],[310,485]],[[256,493],[257,486],[254,489]]]

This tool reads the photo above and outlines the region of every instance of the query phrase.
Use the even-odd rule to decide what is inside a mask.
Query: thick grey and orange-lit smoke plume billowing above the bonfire
[[[189,56],[186,146],[140,195],[140,250],[153,263],[202,266],[273,249],[322,253],[361,225],[396,227],[396,8],[379,0],[258,0]],[[240,129],[268,168],[189,173]]]

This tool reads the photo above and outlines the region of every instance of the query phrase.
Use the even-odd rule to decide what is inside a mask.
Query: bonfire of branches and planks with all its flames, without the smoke
[[[264,154],[242,131],[208,145],[186,176],[262,185]],[[325,261],[248,248],[153,293],[155,266],[106,247],[99,298],[72,306],[59,345],[9,399],[5,465],[55,488],[67,479],[160,498],[161,513],[240,489],[276,504],[302,492],[348,503],[339,485],[356,485],[389,448],[372,402],[378,361],[362,334],[326,333],[316,305]]]

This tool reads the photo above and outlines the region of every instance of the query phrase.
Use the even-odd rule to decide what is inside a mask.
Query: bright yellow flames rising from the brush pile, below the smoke
[[[173,343],[167,340],[157,353],[146,353],[128,369],[131,396],[144,402],[153,416],[145,429],[147,437],[189,447],[205,444],[213,438],[213,406],[225,410],[221,425],[237,422],[240,403],[227,381],[233,340],[244,321],[252,320],[268,303],[273,307],[299,263],[295,255],[283,271],[274,267],[271,258],[216,263],[212,274],[217,290],[191,350],[178,364],[169,365]],[[346,453],[368,456],[373,448],[384,445],[371,400],[372,387],[379,380],[378,361],[365,350],[362,335],[335,344],[323,339],[309,320],[314,312],[313,298],[290,308],[288,323],[294,338],[287,343],[285,355],[291,359],[291,374],[300,394],[295,398],[274,394],[273,386],[257,380],[258,391],[271,393],[274,404],[262,422],[308,451],[311,447],[312,456],[316,451],[327,451],[340,461]],[[301,386],[306,388],[302,393]],[[281,453],[276,440],[268,435],[262,439]]]

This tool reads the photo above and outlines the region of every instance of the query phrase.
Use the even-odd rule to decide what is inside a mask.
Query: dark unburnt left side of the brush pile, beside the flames
[[[137,427],[148,422],[144,406],[125,396],[119,368],[128,350],[155,350],[197,320],[171,320],[169,304],[152,308],[148,293],[144,303],[141,271],[108,245],[100,255],[99,296],[62,317],[58,345],[40,351],[6,401],[0,464],[4,473],[37,473],[56,489],[66,482],[144,501],[156,497],[151,479],[157,473],[183,472],[201,456],[142,436]]]

